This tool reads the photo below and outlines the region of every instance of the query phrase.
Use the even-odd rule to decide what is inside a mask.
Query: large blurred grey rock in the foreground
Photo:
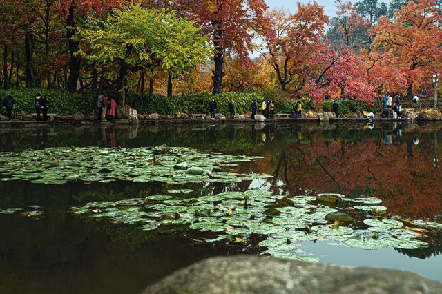
[[[145,294],[442,293],[442,284],[383,268],[342,268],[269,257],[216,257],[193,264]]]

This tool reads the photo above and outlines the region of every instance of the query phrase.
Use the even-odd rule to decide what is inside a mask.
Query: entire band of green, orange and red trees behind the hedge
[[[70,92],[265,91],[358,99],[431,95],[442,1],[3,0],[0,80]],[[148,81],[148,83],[146,83]]]

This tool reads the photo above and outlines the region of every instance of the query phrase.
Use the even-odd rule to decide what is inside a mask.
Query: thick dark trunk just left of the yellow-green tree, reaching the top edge
[[[79,56],[75,56],[75,53],[79,50],[79,42],[73,41],[73,37],[77,32],[76,23],[74,19],[75,12],[75,3],[72,2],[69,7],[69,14],[66,19],[66,38],[68,39],[68,48],[69,48],[69,78],[68,83],[66,85],[66,90],[68,92],[76,92],[77,84],[80,75],[80,63],[81,58]]]

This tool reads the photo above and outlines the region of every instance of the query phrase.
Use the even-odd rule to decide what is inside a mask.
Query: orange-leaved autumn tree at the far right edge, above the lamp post
[[[401,68],[407,77],[407,97],[413,84],[431,79],[442,58],[442,15],[436,1],[409,1],[395,14],[394,21],[383,17],[373,32],[374,48],[390,56],[390,66]]]

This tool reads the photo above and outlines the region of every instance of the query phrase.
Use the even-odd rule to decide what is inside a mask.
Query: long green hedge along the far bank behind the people
[[[21,112],[33,113],[34,98],[37,93],[48,97],[50,101],[49,112],[57,113],[57,115],[75,115],[82,112],[86,117],[96,109],[98,93],[84,92],[71,94],[63,90],[47,90],[43,88],[14,88],[9,90],[10,94],[15,98],[16,106],[14,115],[17,117]],[[118,101],[118,92],[108,92],[110,97]],[[194,95],[183,95],[174,97],[164,97],[160,95],[140,95],[128,92],[126,95],[126,104],[135,108],[140,114],[146,115],[153,112],[160,114],[175,115],[177,112],[182,113],[208,113],[209,102],[213,95],[209,93],[200,93]],[[273,100],[276,113],[292,113],[296,99],[290,99],[285,92],[280,90],[267,90],[262,93],[223,93],[215,96],[218,104],[218,113],[227,115],[229,113],[229,101],[235,101],[236,112],[243,114],[250,111],[251,103],[254,99],[258,101],[258,112],[263,100]],[[300,99],[303,109],[307,108],[308,98]],[[355,101],[339,101],[340,113],[363,112],[364,110],[379,112],[381,108],[378,106],[368,106],[365,103]],[[324,101],[323,109],[332,111],[333,101]],[[316,104],[312,109],[315,110]]]

